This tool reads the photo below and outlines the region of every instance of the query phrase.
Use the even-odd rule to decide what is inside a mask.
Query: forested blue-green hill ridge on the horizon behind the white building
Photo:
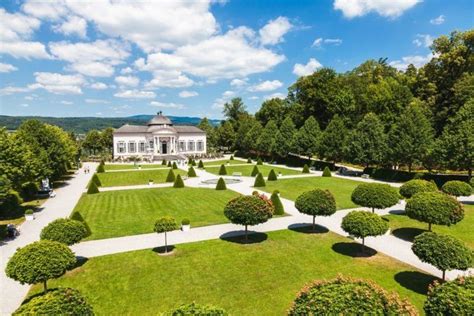
[[[106,127],[118,128],[124,124],[143,125],[154,115],[133,115],[129,117],[48,117],[48,116],[7,116],[0,115],[0,126],[8,130],[15,130],[23,121],[36,119],[42,122],[57,125],[66,131],[84,134],[91,129],[104,129]],[[197,125],[201,121],[199,117],[168,116],[175,125]],[[217,125],[220,120],[209,120],[211,124]]]

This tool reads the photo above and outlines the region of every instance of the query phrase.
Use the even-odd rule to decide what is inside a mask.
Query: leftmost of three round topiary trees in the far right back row
[[[398,203],[400,196],[394,187],[382,183],[359,184],[351,195],[351,200],[357,205],[375,209],[384,209]]]

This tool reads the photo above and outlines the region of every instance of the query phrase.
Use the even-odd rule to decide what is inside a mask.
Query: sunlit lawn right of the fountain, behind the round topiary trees
[[[352,191],[360,182],[335,177],[307,177],[267,181],[267,186],[261,188],[269,193],[280,190],[282,197],[295,201],[303,192],[324,189],[329,190],[336,198],[337,209],[357,207],[351,201]]]

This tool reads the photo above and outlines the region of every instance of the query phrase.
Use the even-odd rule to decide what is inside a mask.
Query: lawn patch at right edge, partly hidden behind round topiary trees
[[[451,226],[433,225],[432,230],[436,233],[448,234],[464,241],[469,247],[474,249],[474,205],[464,205],[464,219]],[[416,235],[425,232],[428,224],[409,218],[405,214],[386,215],[389,220],[392,234],[405,240],[413,240]]]

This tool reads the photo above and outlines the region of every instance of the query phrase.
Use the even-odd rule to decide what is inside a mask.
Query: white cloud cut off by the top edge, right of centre
[[[375,12],[384,17],[396,18],[421,0],[334,0],[334,9],[341,10],[346,18],[355,18]]]

